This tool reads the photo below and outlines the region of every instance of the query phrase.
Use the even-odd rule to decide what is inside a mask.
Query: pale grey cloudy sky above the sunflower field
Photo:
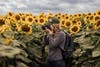
[[[100,9],[100,0],[0,0],[0,14],[13,12],[94,12]]]

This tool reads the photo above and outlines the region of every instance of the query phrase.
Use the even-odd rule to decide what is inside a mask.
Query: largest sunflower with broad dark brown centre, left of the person
[[[25,34],[32,34],[32,27],[28,24],[23,24],[20,26],[19,31],[25,33]]]

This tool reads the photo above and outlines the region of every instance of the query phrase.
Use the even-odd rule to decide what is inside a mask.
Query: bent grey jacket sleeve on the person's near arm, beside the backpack
[[[58,47],[65,39],[64,33],[59,33],[55,38],[49,35],[49,44],[51,47]]]

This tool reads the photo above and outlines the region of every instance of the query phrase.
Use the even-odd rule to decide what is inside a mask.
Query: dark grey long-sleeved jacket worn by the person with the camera
[[[55,36],[47,35],[43,37],[44,43],[49,44],[48,60],[56,61],[63,59],[61,50],[58,46],[64,49],[65,37],[66,35],[63,31],[56,33]]]

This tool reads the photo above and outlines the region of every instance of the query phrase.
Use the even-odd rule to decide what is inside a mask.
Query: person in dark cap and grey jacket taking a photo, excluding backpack
[[[54,20],[54,21],[53,21]],[[60,29],[58,19],[51,21],[50,28],[45,27],[45,35],[43,42],[49,44],[49,52],[46,60],[46,67],[65,67],[65,62],[62,57],[61,50],[64,49],[65,33]],[[50,22],[49,22],[50,23]]]

